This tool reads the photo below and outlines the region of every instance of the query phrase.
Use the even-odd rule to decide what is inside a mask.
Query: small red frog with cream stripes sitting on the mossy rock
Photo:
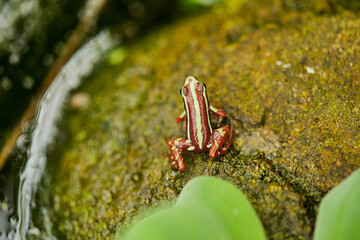
[[[210,105],[206,92],[206,85],[194,76],[185,79],[180,89],[183,98],[184,111],[177,117],[176,122],[186,120],[186,137],[168,140],[170,154],[167,154],[171,165],[178,171],[185,170],[182,153],[209,151],[210,158],[217,158],[226,154],[233,139],[233,124],[220,127],[226,117],[220,108]],[[213,130],[210,115],[219,116],[217,128]]]

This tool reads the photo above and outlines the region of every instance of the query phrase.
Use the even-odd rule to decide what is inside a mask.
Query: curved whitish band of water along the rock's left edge
[[[33,125],[31,145],[27,150],[28,160],[20,174],[17,204],[9,204],[10,199],[0,202],[0,210],[3,213],[0,220],[0,226],[3,226],[0,229],[0,239],[22,240],[27,239],[29,235],[40,237],[42,234],[36,226],[32,225],[31,211],[35,206],[35,193],[46,166],[46,149],[57,133],[56,122],[61,116],[64,102],[70,91],[77,88],[84,77],[88,76],[94,66],[102,60],[105,53],[114,47],[116,43],[114,39],[109,32],[103,31],[81,47],[63,67],[42,99]],[[14,184],[17,183],[6,182],[5,188],[14,189],[12,187]],[[11,196],[10,193],[5,193],[5,195]],[[15,211],[15,206],[17,214],[11,213]],[[46,211],[42,214],[46,219]],[[4,219],[8,222],[4,222]],[[51,231],[51,227],[45,226],[45,228],[47,232]],[[52,238],[51,232],[47,235],[47,238]]]

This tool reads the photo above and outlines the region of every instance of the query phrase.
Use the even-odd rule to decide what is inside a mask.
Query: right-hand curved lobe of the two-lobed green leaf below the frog
[[[231,183],[214,177],[199,177],[182,190],[177,206],[206,208],[217,219],[228,239],[266,239],[256,212],[245,195]]]

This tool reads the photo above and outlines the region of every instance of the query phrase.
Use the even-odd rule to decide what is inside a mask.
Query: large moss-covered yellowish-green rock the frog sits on
[[[321,198],[360,166],[360,20],[331,1],[300,10],[251,2],[118,50],[125,58],[113,54],[79,90],[90,104],[67,111],[49,154],[57,234],[111,239],[212,175],[247,195],[269,239],[311,239]],[[185,153],[177,172],[164,153],[167,139],[185,136],[175,119],[188,75],[227,113],[234,141],[217,159]]]

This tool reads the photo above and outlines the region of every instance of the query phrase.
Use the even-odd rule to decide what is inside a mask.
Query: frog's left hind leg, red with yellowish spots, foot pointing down
[[[168,145],[170,148],[169,158],[171,165],[179,171],[184,171],[185,164],[182,152],[184,150],[189,151],[192,147],[192,142],[187,138],[171,138],[168,141]]]

